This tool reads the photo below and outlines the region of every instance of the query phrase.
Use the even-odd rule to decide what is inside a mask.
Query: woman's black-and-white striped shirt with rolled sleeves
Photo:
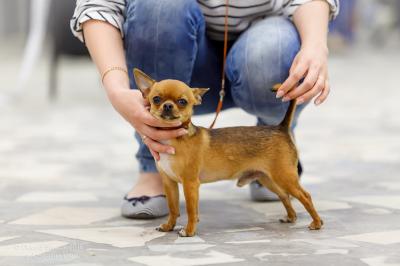
[[[143,0],[145,1],[145,0]],[[171,0],[173,1],[173,0]],[[296,9],[316,0],[230,0],[228,8],[229,38],[235,39],[255,21],[267,16],[291,18]],[[326,1],[330,7],[330,18],[339,12],[339,0]],[[222,40],[224,32],[225,0],[197,0],[203,12],[207,34],[214,40]],[[126,0],[77,0],[71,19],[73,34],[83,40],[82,23],[90,19],[102,20],[120,30],[124,37]]]

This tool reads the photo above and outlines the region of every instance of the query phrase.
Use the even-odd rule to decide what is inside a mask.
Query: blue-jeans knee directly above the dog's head
[[[190,82],[198,36],[205,35],[195,0],[128,0],[124,31],[129,71]],[[133,78],[130,84],[136,88]]]

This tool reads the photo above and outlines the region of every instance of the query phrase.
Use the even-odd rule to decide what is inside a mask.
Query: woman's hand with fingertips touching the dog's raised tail
[[[278,89],[277,98],[286,102],[297,99],[297,104],[310,101],[319,105],[328,97],[328,48],[326,45],[305,46],[293,60],[289,77]],[[300,83],[301,82],[301,83]]]

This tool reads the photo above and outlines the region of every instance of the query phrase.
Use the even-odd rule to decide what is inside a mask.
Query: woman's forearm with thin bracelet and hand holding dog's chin
[[[88,20],[82,27],[86,46],[100,75],[111,67],[126,68],[122,38],[117,28],[98,20]],[[141,92],[130,89],[129,79],[125,72],[119,70],[108,72],[104,77],[103,85],[114,108],[141,136],[147,136],[145,144],[150,148],[155,159],[159,159],[159,152],[174,153],[172,147],[162,145],[158,141],[184,135],[186,130],[157,128],[176,127],[180,124],[165,124],[154,118],[146,109],[146,102]]]

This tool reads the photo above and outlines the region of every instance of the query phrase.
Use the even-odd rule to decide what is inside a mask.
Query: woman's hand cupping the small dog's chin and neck
[[[184,128],[168,129],[179,127],[181,122],[165,123],[156,119],[149,112],[149,103],[138,90],[113,89],[108,90],[108,96],[114,108],[142,136],[144,144],[150,149],[155,160],[160,160],[159,153],[175,154],[173,147],[164,145],[160,141],[187,134]]]

